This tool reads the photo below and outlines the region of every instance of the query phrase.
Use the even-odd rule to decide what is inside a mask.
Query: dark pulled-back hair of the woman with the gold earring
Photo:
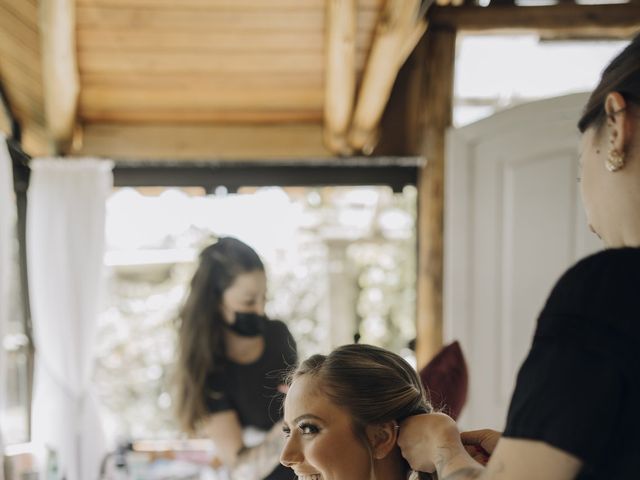
[[[606,118],[605,101],[612,92],[620,93],[628,103],[640,106],[640,34],[614,58],[602,72],[600,83],[589,97],[578,129],[600,128]]]

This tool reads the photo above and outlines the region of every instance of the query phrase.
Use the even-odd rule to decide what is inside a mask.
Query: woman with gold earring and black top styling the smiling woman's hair
[[[502,437],[463,434],[491,454],[486,467],[465,452],[455,423],[435,414],[401,425],[414,468],[442,480],[640,476],[640,35],[605,69],[578,128],[582,199],[607,249],[551,292]]]

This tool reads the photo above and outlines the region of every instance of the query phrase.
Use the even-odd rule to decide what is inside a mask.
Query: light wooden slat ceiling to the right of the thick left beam
[[[382,3],[358,5],[359,76]],[[325,8],[324,0],[76,0],[80,117],[321,122]]]

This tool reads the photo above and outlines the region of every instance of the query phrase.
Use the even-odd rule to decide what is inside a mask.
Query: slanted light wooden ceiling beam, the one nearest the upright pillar
[[[385,4],[349,132],[349,145],[355,151],[373,151],[378,124],[398,71],[426,28],[420,1],[389,0]]]

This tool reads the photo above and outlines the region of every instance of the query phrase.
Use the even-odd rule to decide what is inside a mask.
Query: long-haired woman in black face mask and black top
[[[266,276],[248,245],[221,238],[200,254],[179,332],[177,410],[182,428],[205,434],[234,479],[290,480],[282,446],[283,372],[297,362],[284,323],[264,315]],[[249,448],[243,429],[265,432]]]

